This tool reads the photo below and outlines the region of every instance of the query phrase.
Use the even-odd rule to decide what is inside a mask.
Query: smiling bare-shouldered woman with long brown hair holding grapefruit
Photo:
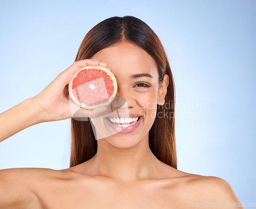
[[[112,70],[116,97],[126,106],[112,105],[121,117],[138,117],[136,129],[102,137],[112,114],[106,108],[87,111],[92,122],[74,119],[67,85],[86,65]],[[0,208],[241,206],[225,180],[177,170],[174,106],[164,106],[174,100],[173,75],[152,29],[133,16],[100,22],[70,67],[38,95],[0,114],[0,141],[31,125],[68,118],[72,131],[70,168],[0,170]]]

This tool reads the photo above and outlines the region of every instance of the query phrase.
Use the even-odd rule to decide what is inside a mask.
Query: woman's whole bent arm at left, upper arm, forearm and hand
[[[105,107],[95,110],[80,109],[69,99],[68,84],[79,68],[92,65],[107,67],[98,60],[74,62],[38,95],[26,99],[0,114],[0,142],[31,125],[64,120],[72,117],[72,108],[79,110],[81,117],[96,117]],[[111,70],[111,68],[109,68]],[[81,110],[81,111],[80,111]],[[76,115],[80,116],[80,115]],[[40,208],[36,191],[41,182],[52,173],[51,169],[11,168],[0,170],[0,209]],[[54,171],[58,172],[58,171]]]

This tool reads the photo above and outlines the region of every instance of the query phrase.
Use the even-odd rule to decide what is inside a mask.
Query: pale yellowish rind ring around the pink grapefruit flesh
[[[99,103],[98,105],[94,105],[94,106],[87,106],[85,105],[84,103],[81,103],[80,101],[77,100],[77,98],[74,96],[74,94],[72,93],[72,85],[73,85],[73,80],[75,79],[76,75],[81,71],[81,70],[84,70],[84,69],[100,69],[100,70],[103,70],[105,71],[112,79],[113,81],[113,86],[114,86],[114,92],[113,94],[110,96],[109,100],[104,102],[104,103]],[[88,109],[88,110],[93,110],[93,109],[96,109],[96,108],[99,108],[99,107],[103,107],[103,106],[107,106],[109,105],[112,100],[114,99],[114,97],[116,96],[116,93],[117,93],[117,81],[116,81],[116,77],[115,75],[106,67],[102,67],[100,65],[97,65],[97,66],[92,66],[92,65],[87,65],[87,66],[83,66],[81,67],[72,77],[70,83],[69,83],[69,95],[71,97],[71,99],[81,108],[84,108],[84,109]]]

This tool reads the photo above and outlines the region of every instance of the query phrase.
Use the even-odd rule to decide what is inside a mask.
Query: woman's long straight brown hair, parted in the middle
[[[163,82],[164,74],[169,76],[165,104],[161,107],[157,105],[157,116],[161,117],[155,118],[148,140],[156,158],[177,169],[174,79],[164,48],[154,31],[145,22],[133,16],[105,19],[84,37],[75,61],[91,59],[103,48],[124,40],[136,44],[154,58],[159,72],[159,84]],[[79,121],[71,118],[71,137],[70,167],[88,161],[96,154],[97,140],[90,120]]]

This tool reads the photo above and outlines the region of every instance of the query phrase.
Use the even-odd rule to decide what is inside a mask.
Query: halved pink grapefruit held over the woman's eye
[[[69,83],[69,95],[72,100],[88,110],[109,105],[116,92],[115,75],[100,65],[81,67]]]

